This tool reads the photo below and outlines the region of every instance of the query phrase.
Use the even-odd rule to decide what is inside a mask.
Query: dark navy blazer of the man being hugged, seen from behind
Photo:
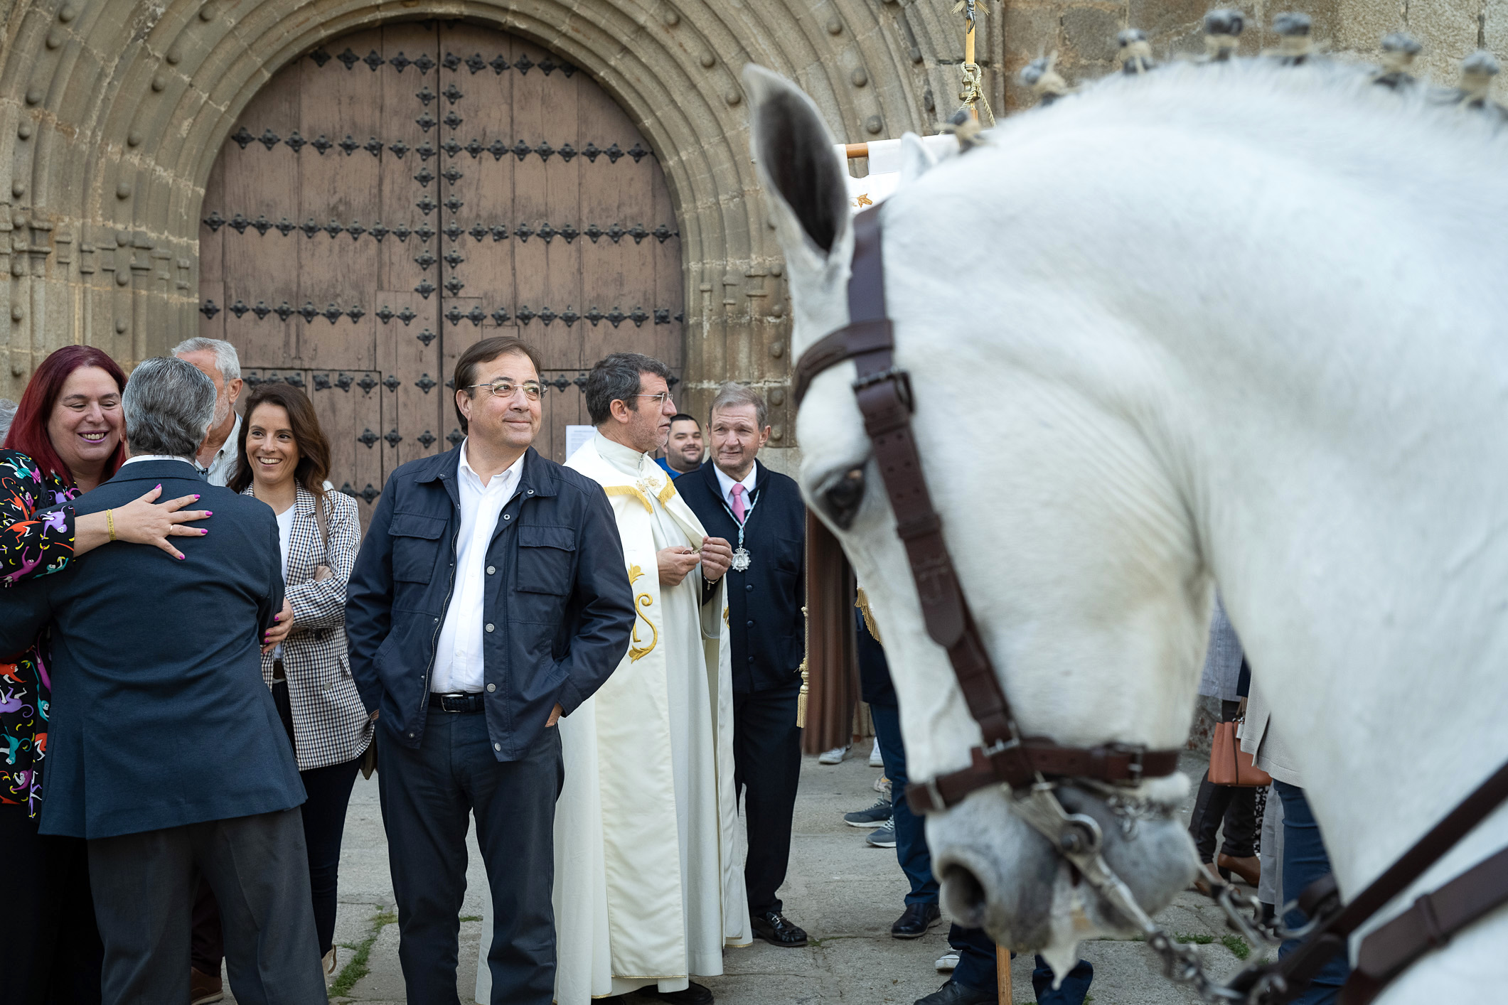
[[[122,506],[157,484],[214,512],[208,535],[173,538],[184,561],[118,541],[0,591],[0,652],[51,621],[42,833],[110,838],[305,800],[261,674],[284,595],[277,520],[182,461],[127,464],[74,508]]]

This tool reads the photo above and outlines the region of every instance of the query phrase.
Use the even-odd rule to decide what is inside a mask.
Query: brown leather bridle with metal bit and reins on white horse
[[[896,341],[890,318],[885,316],[879,206],[854,217],[854,271],[847,301],[849,322],[822,338],[796,362],[796,407],[801,407],[817,374],[854,360],[858,371],[854,396],[896,514],[896,532],[906,545],[927,634],[947,649],[964,701],[983,734],[983,744],[970,750],[971,764],[967,768],[906,787],[911,809],[935,814],[961,803],[970,793],[1009,785],[1012,809],[1054,842],[1059,854],[1142,930],[1146,943],[1163,958],[1169,978],[1191,984],[1205,1002],[1292,1000],[1330,957],[1345,951],[1351,933],[1508,802],[1508,764],[1457,803],[1455,809],[1350,904],[1341,906],[1332,877],[1306,889],[1298,906],[1313,922],[1304,931],[1289,933],[1279,922],[1264,922],[1255,897],[1243,897],[1235,887],[1212,877],[1218,889],[1217,903],[1253,946],[1274,948],[1286,937],[1303,939],[1294,952],[1279,961],[1255,963],[1229,984],[1217,985],[1205,973],[1197,949],[1175,942],[1160,928],[1105,865],[1099,854],[1102,835],[1098,824],[1089,817],[1068,814],[1053,793],[1060,780],[1123,785],[1163,777],[1178,770],[1179,752],[1146,750],[1119,743],[1065,747],[1045,737],[1021,737],[1010,713],[1010,702],[1000,687],[989,652],[964,600],[953,557],[942,539],[942,520],[932,506],[921,473],[921,455],[911,432],[911,416],[915,411],[911,377],[896,366]],[[1356,969],[1342,988],[1342,1003],[1366,1005],[1415,960],[1440,948],[1455,933],[1502,904],[1508,904],[1508,848],[1419,897],[1408,910],[1369,933],[1362,940]],[[1253,916],[1247,918],[1243,910]]]

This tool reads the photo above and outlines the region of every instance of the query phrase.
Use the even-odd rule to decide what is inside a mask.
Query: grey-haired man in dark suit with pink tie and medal
[[[796,696],[805,625],[807,508],[796,482],[756,460],[769,440],[765,398],[724,384],[712,401],[712,460],[676,479],[707,533],[736,541],[728,570],[733,642],[733,762],[743,793],[749,851],[743,883],[754,934],[804,946],[775,890],[790,860],[790,818],[801,780]]]

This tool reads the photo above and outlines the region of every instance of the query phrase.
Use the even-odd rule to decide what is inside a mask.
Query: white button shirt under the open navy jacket
[[[430,690],[436,695],[480,692],[483,687],[483,600],[489,573],[487,545],[498,529],[502,508],[519,491],[523,478],[523,457],[513,466],[493,475],[486,485],[466,460],[466,444],[461,441],[461,460],[455,469],[455,487],[461,499],[461,530],[455,535],[455,591],[445,609],[445,624],[440,625],[440,640],[434,646],[434,675]]]

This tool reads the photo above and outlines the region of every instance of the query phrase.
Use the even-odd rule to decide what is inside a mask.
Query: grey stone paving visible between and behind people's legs
[[[866,750],[867,753],[867,750]],[[1203,770],[1202,758],[1187,756],[1193,777]],[[802,764],[796,802],[790,877],[781,890],[787,915],[811,933],[802,949],[777,949],[756,942],[728,949],[725,973],[704,982],[722,1005],[769,1005],[777,1002],[863,1005],[909,1005],[946,979],[933,961],[946,951],[947,922],[914,942],[891,939],[890,924],[900,915],[906,881],[891,850],[864,844],[866,830],[847,827],[841,814],[869,806],[878,768],[855,755],[837,767],[807,758]],[[1191,803],[1191,800],[1190,800]],[[1185,817],[1188,806],[1185,806]],[[461,1002],[472,1000],[477,945],[481,937],[481,857],[470,847],[469,892],[461,912],[460,967]],[[388,844],[382,830],[375,779],[357,779],[345,826],[341,856],[341,909],[336,942],[342,979],[332,1002],[400,1005],[404,999],[398,966],[398,927],[394,916],[392,883],[388,877]],[[1218,912],[1194,894],[1181,894],[1163,912],[1161,921],[1178,936],[1203,946],[1211,972],[1226,975],[1241,964],[1221,942],[1228,934]],[[1234,937],[1228,942],[1244,948]],[[1163,979],[1158,964],[1140,942],[1098,940],[1083,949],[1095,964],[1090,1000],[1116,1005],[1184,1005],[1196,997]],[[1030,960],[1012,967],[1013,1000],[1033,1002]],[[228,1002],[234,1002],[226,994]],[[630,1005],[654,1000],[630,996]]]

